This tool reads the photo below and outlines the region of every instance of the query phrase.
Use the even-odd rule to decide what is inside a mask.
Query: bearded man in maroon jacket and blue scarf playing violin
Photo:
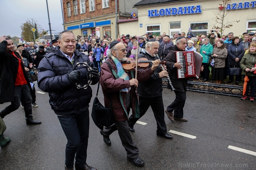
[[[109,107],[110,96],[112,97],[115,124],[104,127],[100,133],[103,135],[103,141],[107,145],[111,145],[109,135],[118,130],[122,145],[127,151],[127,160],[135,166],[141,167],[144,166],[144,161],[139,158],[139,150],[129,133],[128,115],[131,108],[132,115],[139,118],[140,112],[135,86],[137,87],[138,82],[146,81],[154,74],[153,71],[158,67],[160,60],[152,61],[152,67],[149,69],[138,70],[137,79],[135,79],[136,71],[125,71],[121,64],[122,61],[127,60],[124,44],[120,41],[113,41],[109,46],[108,59],[101,66],[100,84],[104,94],[105,107]]]

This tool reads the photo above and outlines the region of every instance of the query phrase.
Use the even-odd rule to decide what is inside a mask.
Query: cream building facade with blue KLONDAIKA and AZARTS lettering
[[[207,34],[214,30],[214,25],[221,25],[214,20],[214,13],[223,12],[220,4],[222,0],[141,0],[134,5],[138,9],[138,21],[119,24],[119,31],[131,35],[163,32],[173,35],[187,33],[191,28],[194,35]],[[234,32],[239,36],[249,30],[256,31],[256,1],[232,0],[225,12],[224,23],[229,22],[232,27],[226,28],[223,34]],[[129,27],[132,29],[127,30]]]

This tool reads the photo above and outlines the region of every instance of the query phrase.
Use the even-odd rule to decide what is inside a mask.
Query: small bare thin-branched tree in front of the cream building
[[[216,21],[216,23],[213,25],[212,29],[218,30],[221,35],[223,34],[224,30],[226,28],[230,28],[232,27],[232,23],[234,22],[239,22],[239,21],[232,21],[232,22],[228,22],[225,21],[225,17],[228,15],[228,10],[226,10],[227,8],[227,4],[231,3],[231,0],[222,0],[222,4],[219,4],[219,11],[213,11],[213,14],[215,15],[215,17],[213,18],[214,21]]]

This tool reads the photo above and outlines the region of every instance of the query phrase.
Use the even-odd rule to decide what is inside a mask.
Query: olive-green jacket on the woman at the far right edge
[[[256,76],[256,74],[254,74],[253,72],[246,72],[245,69],[246,68],[252,68],[255,67],[255,63],[256,63],[256,53],[248,53],[245,54],[244,57],[242,57],[241,61],[240,61],[240,67],[242,69],[242,75],[247,75],[247,76]]]

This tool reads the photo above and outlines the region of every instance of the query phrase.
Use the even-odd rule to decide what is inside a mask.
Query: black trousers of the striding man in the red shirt
[[[32,98],[30,94],[30,84],[24,84],[21,86],[14,86],[14,100],[11,102],[9,106],[4,108],[0,112],[1,118],[4,118],[7,114],[17,110],[20,107],[20,101],[24,106],[25,116],[26,118],[32,117]]]

